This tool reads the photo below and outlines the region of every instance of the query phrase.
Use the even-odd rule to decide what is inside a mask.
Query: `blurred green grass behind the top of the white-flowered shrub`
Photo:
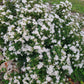
[[[3,0],[0,0],[0,4],[2,4]],[[50,4],[60,3],[60,1],[65,0],[43,0],[44,2],[49,2]],[[72,12],[78,12],[80,14],[84,14],[84,0],[68,0],[72,3]]]

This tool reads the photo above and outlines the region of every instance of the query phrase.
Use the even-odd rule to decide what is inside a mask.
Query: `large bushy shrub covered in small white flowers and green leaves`
[[[0,6],[0,45],[4,60],[17,71],[4,74],[8,84],[63,84],[84,69],[84,34],[79,14],[68,1],[51,8],[41,0],[11,0]],[[8,72],[11,72],[10,74]]]

